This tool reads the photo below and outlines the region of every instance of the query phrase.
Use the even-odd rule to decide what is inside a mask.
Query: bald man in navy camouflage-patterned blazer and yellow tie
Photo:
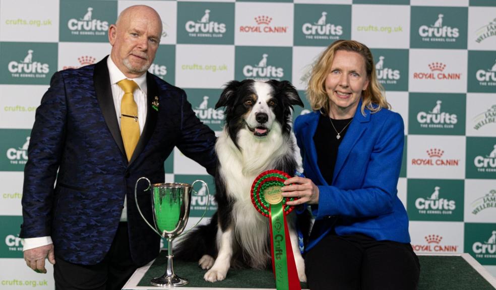
[[[215,171],[214,132],[184,91],[147,73],[161,34],[152,8],[122,11],[108,31],[110,57],[55,73],[36,111],[21,238],[29,267],[54,264],[57,289],[120,289],[157,256],[160,237],[137,212],[134,187],[142,176],[164,182],[174,146]],[[145,186],[138,202],[151,221]]]

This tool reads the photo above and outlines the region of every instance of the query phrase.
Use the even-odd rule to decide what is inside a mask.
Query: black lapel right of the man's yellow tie
[[[154,76],[150,73],[146,73],[146,88],[147,88],[147,111],[146,111],[146,122],[143,128],[143,132],[141,133],[140,140],[136,145],[135,151],[133,152],[133,156],[131,157],[131,161],[129,164],[131,165],[133,161],[138,158],[141,152],[145,149],[148,140],[150,140],[153,131],[155,130],[155,124],[157,123],[158,111],[152,107],[152,102],[155,100],[155,97],[159,97],[158,85],[154,80]]]

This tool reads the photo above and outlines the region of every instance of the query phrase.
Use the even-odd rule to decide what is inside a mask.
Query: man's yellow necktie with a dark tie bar
[[[117,85],[124,91],[124,96],[122,96],[122,101],[120,102],[120,133],[129,162],[140,139],[138,105],[136,105],[133,96],[138,84],[125,79],[118,82]]]

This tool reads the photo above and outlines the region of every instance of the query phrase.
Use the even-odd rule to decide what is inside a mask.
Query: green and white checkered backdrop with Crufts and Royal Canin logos
[[[135,4],[154,7],[163,21],[150,71],[183,88],[216,131],[224,115],[214,106],[226,82],[288,80],[304,98],[309,65],[327,45],[350,38],[368,45],[405,121],[398,195],[415,251],[470,253],[496,275],[495,1],[2,0],[0,288],[54,288],[51,274],[26,267],[18,237],[35,110],[56,70],[108,54],[108,26]],[[167,181],[204,179],[214,193],[212,177],[179,151],[164,167]],[[191,222],[205,208],[199,191]]]

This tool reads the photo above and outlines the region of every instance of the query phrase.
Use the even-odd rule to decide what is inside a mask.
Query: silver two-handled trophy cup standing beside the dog
[[[153,207],[153,223],[152,226],[145,218],[141,212],[140,206],[138,204],[137,198],[137,187],[138,182],[142,179],[148,181],[148,188],[151,192],[152,207]],[[190,204],[191,204],[191,193],[193,191],[193,186],[197,182],[202,182],[205,184],[208,193],[208,186],[202,180],[196,180],[192,184],[188,183],[156,183],[151,184],[150,180],[146,177],[141,177],[136,181],[135,185],[135,201],[138,211],[141,217],[147,223],[153,231],[155,231],[160,237],[167,240],[167,269],[165,274],[158,278],[153,278],[150,283],[155,286],[171,287],[171,286],[182,286],[188,284],[188,280],[178,277],[174,274],[174,268],[172,266],[172,240],[179,237],[186,224],[188,223],[188,217],[190,215]],[[207,199],[209,200],[210,197]],[[207,208],[203,213],[208,210],[209,202],[207,203]],[[202,216],[202,219],[203,219]],[[201,221],[201,219],[200,219]],[[200,223],[198,221],[198,223]],[[198,223],[196,225],[198,225]],[[195,226],[196,226],[195,225]],[[194,227],[195,227],[194,226]]]

